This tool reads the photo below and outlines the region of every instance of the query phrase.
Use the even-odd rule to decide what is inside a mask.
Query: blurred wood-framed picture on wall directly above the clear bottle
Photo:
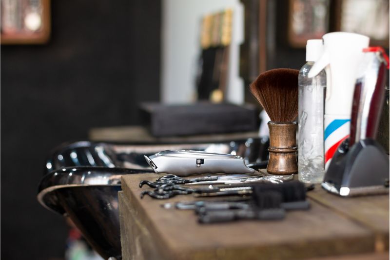
[[[330,0],[289,0],[288,41],[303,48],[329,32]]]

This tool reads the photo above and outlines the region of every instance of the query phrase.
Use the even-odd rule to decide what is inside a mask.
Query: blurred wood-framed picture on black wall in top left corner
[[[50,0],[0,0],[1,44],[43,44],[50,37]]]

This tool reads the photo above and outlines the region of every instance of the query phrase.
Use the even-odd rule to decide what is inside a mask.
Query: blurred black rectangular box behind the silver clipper
[[[254,105],[199,102],[185,105],[141,103],[141,116],[155,137],[257,131]]]

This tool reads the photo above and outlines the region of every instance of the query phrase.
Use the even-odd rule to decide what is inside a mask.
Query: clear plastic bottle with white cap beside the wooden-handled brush
[[[306,61],[298,76],[298,177],[321,183],[324,178],[324,104],[326,73],[308,74],[322,53],[322,40],[308,40]]]

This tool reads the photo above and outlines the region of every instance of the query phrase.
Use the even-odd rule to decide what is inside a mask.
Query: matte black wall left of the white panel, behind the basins
[[[36,200],[44,159],[159,98],[160,1],[51,1],[52,37],[1,46],[1,259],[63,257],[67,227]]]

